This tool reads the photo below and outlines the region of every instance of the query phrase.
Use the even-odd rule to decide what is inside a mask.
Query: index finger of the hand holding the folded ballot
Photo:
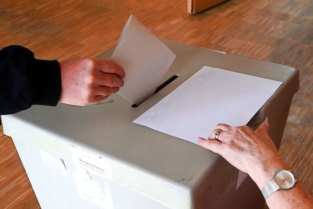
[[[95,68],[105,73],[112,73],[120,78],[125,78],[124,69],[110,60],[95,59]]]

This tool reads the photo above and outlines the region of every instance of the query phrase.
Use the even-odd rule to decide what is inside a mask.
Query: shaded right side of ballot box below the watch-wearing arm
[[[193,188],[194,209],[263,209],[265,200],[249,176],[237,188],[238,173],[221,157]]]

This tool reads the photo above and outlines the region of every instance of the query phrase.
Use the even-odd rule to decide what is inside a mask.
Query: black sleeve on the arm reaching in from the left
[[[20,112],[33,104],[56,106],[61,91],[57,60],[38,60],[22,46],[0,51],[0,115]]]

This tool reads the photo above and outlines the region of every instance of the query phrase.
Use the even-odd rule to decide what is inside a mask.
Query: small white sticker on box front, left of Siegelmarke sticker
[[[53,170],[57,171],[58,173],[64,176],[67,176],[67,169],[62,159],[56,158],[42,149],[40,149],[40,154],[41,154],[43,163],[46,166],[52,168]]]

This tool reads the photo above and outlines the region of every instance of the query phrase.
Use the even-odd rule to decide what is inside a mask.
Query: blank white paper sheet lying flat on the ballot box
[[[205,66],[134,122],[198,144],[218,123],[246,125],[281,84]]]

